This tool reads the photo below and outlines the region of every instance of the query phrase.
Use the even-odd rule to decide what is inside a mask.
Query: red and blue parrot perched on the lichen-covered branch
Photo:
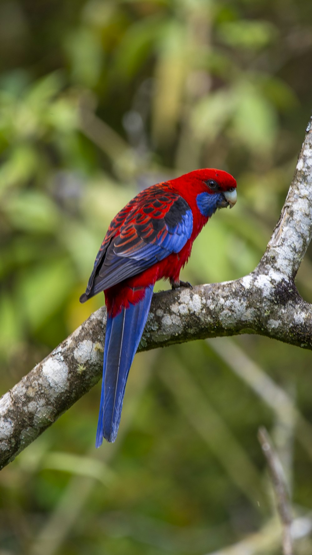
[[[96,447],[115,441],[125,384],[152,301],[155,281],[180,281],[194,239],[218,208],[234,206],[236,181],[200,169],[141,191],[118,212],[100,246],[80,302],[104,291],[107,324]]]

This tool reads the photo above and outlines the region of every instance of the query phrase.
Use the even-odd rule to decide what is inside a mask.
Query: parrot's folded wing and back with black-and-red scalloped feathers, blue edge
[[[179,253],[192,230],[192,210],[182,196],[166,184],[145,189],[110,224],[80,302]]]

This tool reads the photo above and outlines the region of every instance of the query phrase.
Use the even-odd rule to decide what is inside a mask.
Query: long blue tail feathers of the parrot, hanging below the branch
[[[153,286],[136,305],[122,309],[115,317],[107,317],[102,393],[95,447],[103,437],[115,441],[122,413],[125,384],[147,321]]]

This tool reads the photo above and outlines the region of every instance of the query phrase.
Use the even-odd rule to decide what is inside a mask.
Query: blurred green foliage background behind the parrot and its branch
[[[312,3],[1,0],[0,52],[2,394],[104,303],[78,299],[110,220],[150,184],[232,173],[238,203],[182,279],[254,269],[311,114]],[[310,555],[311,392],[310,352],[264,337],[137,355],[114,445],[94,448],[98,384],[0,473],[1,555],[230,555],[243,538],[280,554],[260,425]]]

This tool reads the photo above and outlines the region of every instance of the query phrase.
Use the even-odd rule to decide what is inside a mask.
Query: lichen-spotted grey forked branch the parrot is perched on
[[[259,265],[238,280],[155,294],[139,350],[243,333],[312,349],[312,305],[294,282],[311,235],[312,118]],[[105,321],[103,307],[0,398],[0,468],[100,379]]]

